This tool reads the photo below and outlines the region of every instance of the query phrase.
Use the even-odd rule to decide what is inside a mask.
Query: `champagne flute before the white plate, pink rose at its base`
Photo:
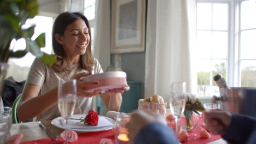
[[[69,80],[65,82],[63,79],[59,79],[58,87],[58,107],[61,116],[65,119],[66,127],[65,131],[61,133],[61,137],[65,140],[65,144],[69,141],[77,140],[77,133],[73,130],[68,130],[69,118],[73,115],[75,109],[75,103],[77,101],[77,81]]]

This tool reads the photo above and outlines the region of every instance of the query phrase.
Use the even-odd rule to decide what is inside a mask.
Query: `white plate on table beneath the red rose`
[[[72,118],[80,118],[85,117],[86,115],[73,115]],[[51,121],[51,124],[55,125],[58,128],[65,129],[65,121],[63,117],[54,118]],[[68,129],[74,130],[77,132],[90,132],[90,131],[103,131],[109,130],[114,127],[114,120],[109,117],[98,116],[98,125],[91,126],[91,125],[84,125],[80,123],[79,120],[69,119],[68,122]]]

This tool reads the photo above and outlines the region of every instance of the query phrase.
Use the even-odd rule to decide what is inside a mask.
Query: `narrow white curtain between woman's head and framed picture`
[[[110,0],[96,1],[94,56],[105,71],[110,65]]]

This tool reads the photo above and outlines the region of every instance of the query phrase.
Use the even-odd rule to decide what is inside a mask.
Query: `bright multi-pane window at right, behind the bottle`
[[[256,87],[256,1],[202,0],[196,3],[197,90],[219,92],[213,76],[229,86]]]

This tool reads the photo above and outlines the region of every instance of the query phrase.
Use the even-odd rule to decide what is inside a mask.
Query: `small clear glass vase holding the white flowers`
[[[179,118],[179,125],[181,126],[182,130],[191,131],[192,129],[194,129],[196,127],[198,121],[199,121],[199,115],[197,115],[197,113],[193,112],[189,122],[187,122],[185,116],[182,115]]]

